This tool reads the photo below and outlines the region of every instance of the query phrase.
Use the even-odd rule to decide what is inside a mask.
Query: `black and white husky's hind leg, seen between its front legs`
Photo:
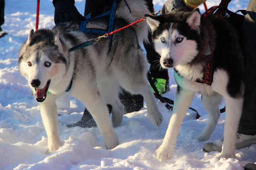
[[[215,130],[219,118],[220,118],[220,103],[222,101],[222,96],[212,96],[207,97],[202,95],[202,105],[204,109],[208,112],[209,120],[203,130],[203,132],[196,137],[199,141],[207,141],[210,139],[213,131]]]

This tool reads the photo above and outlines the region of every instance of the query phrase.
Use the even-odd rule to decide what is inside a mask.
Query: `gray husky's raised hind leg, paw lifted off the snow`
[[[113,73],[125,90],[133,94],[141,94],[144,97],[149,119],[156,127],[159,127],[162,123],[163,116],[158,110],[155,96],[148,83],[148,62],[139,45],[137,47],[131,46],[130,48],[132,50],[129,50],[129,53],[124,51],[127,54],[116,56],[113,59]]]

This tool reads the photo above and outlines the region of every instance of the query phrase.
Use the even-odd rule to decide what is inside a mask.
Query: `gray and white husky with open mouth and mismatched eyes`
[[[149,13],[144,0],[127,0],[117,4],[114,30],[131,24]],[[107,21],[88,21],[87,28],[106,29]],[[65,95],[73,77],[70,95],[80,100],[92,114],[107,149],[118,145],[112,127],[122,122],[124,106],[118,98],[119,87],[141,94],[146,101],[149,119],[157,127],[162,123],[154,94],[147,80],[147,60],[139,42],[147,40],[146,22],[129,27],[96,44],[68,52],[68,49],[98,36],[76,31],[79,22],[63,23],[53,29],[30,31],[19,53],[20,73],[35,90],[48,136],[49,152],[61,146],[58,132],[56,98]],[[109,49],[110,48],[110,49]],[[112,122],[106,104],[112,105]]]

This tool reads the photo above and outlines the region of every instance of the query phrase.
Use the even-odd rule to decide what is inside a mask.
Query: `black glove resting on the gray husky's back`
[[[71,0],[59,0],[55,3],[54,23],[57,25],[60,22],[84,21],[85,18],[81,15],[74,3]]]

